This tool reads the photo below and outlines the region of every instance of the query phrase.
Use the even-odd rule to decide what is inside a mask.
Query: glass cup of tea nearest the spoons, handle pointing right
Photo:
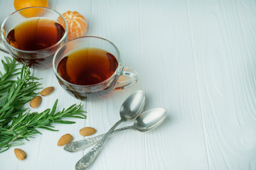
[[[122,66],[118,48],[104,38],[85,36],[65,43],[53,57],[60,85],[75,98],[106,96],[137,83],[137,72]],[[127,79],[128,78],[128,79]]]

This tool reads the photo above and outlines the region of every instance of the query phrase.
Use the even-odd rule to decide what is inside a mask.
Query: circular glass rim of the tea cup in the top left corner
[[[58,15],[59,15],[61,18],[63,18],[64,23],[65,23],[65,33],[64,33],[63,37],[62,37],[58,42],[56,42],[54,45],[52,45],[52,46],[50,46],[50,47],[43,48],[43,49],[41,49],[41,50],[21,50],[21,49],[18,49],[18,48],[16,48],[16,47],[14,47],[14,46],[11,46],[11,45],[9,44],[9,42],[7,42],[6,38],[4,37],[4,24],[6,23],[6,21],[7,21],[14,13],[18,13],[19,11],[23,11],[23,10],[28,9],[28,8],[45,8],[46,10],[50,10],[50,11],[54,11],[55,13],[58,13]],[[40,17],[40,16],[38,16],[38,17]],[[31,17],[31,18],[37,18],[37,17]],[[61,13],[59,13],[58,11],[55,11],[55,10],[52,9],[52,8],[46,8],[46,7],[41,7],[41,6],[32,6],[32,7],[27,7],[27,8],[21,8],[21,9],[19,9],[19,10],[17,10],[17,11],[14,11],[14,12],[11,13],[11,14],[9,14],[9,16],[7,16],[7,17],[4,19],[3,23],[1,24],[0,33],[1,33],[0,39],[4,40],[5,44],[8,45],[9,47],[11,47],[11,48],[14,49],[14,50],[17,50],[17,51],[19,51],[19,52],[26,52],[26,53],[42,52],[42,51],[46,51],[46,50],[49,50],[50,48],[53,48],[53,47],[56,47],[56,46],[60,45],[60,43],[63,42],[63,40],[64,40],[65,38],[68,38],[68,23],[67,23],[67,21],[65,20],[65,18],[63,17],[63,15],[62,15]],[[43,57],[42,57],[42,58],[43,58]]]

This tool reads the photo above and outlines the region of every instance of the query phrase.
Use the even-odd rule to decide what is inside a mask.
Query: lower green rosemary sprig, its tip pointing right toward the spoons
[[[9,149],[9,147],[23,145],[23,142],[18,142],[23,139],[28,140],[33,135],[41,134],[37,128],[57,131],[51,123],[73,124],[75,122],[69,120],[62,120],[62,118],[86,118],[82,114],[81,105],[73,105],[63,111],[55,112],[57,108],[58,99],[55,101],[52,110],[46,109],[42,113],[19,114],[6,128],[0,128],[0,153]]]

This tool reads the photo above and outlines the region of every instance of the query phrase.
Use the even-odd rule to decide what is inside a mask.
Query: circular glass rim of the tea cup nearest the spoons
[[[60,74],[58,74],[57,72],[57,69],[55,67],[55,58],[56,56],[58,55],[58,52],[63,48],[65,47],[65,45],[67,45],[69,42],[72,42],[74,40],[78,40],[80,38],[97,38],[97,39],[101,39],[101,40],[105,40],[106,42],[109,42],[111,45],[113,45],[113,47],[117,50],[117,54],[119,56],[119,61],[118,61],[118,66],[117,66],[117,69],[114,71],[114,73],[111,75],[111,77],[105,79],[104,81],[101,81],[100,83],[97,83],[97,84],[90,84],[90,85],[79,85],[79,84],[73,84],[73,83],[70,83],[69,81],[66,81],[65,79],[63,79]],[[57,66],[58,67],[58,66]],[[74,38],[73,40],[69,40],[68,42],[65,42],[64,45],[62,45],[60,48],[58,48],[58,50],[55,52],[54,56],[53,56],[53,72],[55,73],[55,75],[58,77],[58,79],[60,79],[61,81],[63,81],[65,84],[70,84],[72,86],[76,86],[76,87],[93,87],[93,86],[100,86],[101,84],[105,84],[105,82],[109,81],[110,79],[112,79],[114,77],[115,74],[117,74],[118,70],[122,68],[122,57],[120,55],[120,52],[117,48],[116,45],[114,45],[113,42],[111,42],[110,40],[107,40],[105,38],[100,38],[100,37],[97,37],[97,36],[82,36],[82,37],[79,37],[79,38]]]

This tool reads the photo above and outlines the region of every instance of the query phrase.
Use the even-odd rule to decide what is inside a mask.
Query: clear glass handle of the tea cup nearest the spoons
[[[134,69],[128,67],[123,67],[122,71],[118,77],[117,84],[114,86],[114,90],[126,89],[129,86],[137,84],[138,73]]]

